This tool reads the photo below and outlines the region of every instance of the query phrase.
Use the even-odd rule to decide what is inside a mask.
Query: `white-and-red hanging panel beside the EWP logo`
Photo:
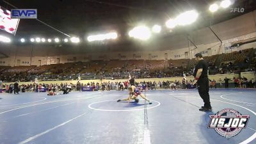
[[[11,19],[11,12],[0,6],[0,29],[15,35],[19,19]]]

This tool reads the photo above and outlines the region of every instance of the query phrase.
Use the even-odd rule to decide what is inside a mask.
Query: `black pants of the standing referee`
[[[204,100],[204,107],[211,108],[210,95],[209,95],[209,79],[208,77],[200,77],[197,81],[198,93]]]

